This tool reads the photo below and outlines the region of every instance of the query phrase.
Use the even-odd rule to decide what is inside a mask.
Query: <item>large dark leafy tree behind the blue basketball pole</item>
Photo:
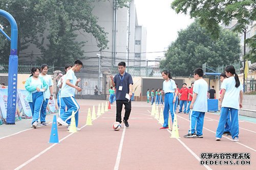
[[[38,59],[39,63],[63,66],[83,56],[81,47],[86,42],[76,41],[78,32],[92,34],[102,50],[108,44],[106,37],[108,33],[97,24],[98,18],[92,14],[93,2],[93,0],[3,0],[0,8],[11,13],[17,21],[18,52],[26,49],[30,44],[35,44],[43,55]],[[7,21],[4,23],[4,28],[8,32],[9,23]],[[5,54],[8,58],[8,52]]]

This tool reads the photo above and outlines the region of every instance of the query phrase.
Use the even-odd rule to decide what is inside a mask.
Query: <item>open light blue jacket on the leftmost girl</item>
[[[45,88],[45,89],[47,90],[47,89],[48,89],[48,85],[47,85],[46,81],[44,80],[44,78],[42,78],[42,77],[38,77],[38,78],[39,78],[39,79],[41,80],[41,82],[42,82],[40,89]],[[26,96],[26,101],[28,101],[28,102],[33,102],[32,91],[35,91],[35,90],[36,90],[36,86],[31,85],[31,79],[32,79],[32,76],[29,77],[29,78],[26,80],[26,83],[25,83],[25,88],[26,88],[26,90],[28,91],[28,95]],[[45,91],[46,91],[46,90],[45,90]],[[44,92],[44,101],[45,101],[45,100],[46,100],[46,99],[45,99],[45,92]]]

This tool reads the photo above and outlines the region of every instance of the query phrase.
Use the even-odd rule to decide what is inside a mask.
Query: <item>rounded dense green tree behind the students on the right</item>
[[[175,42],[169,45],[160,68],[169,69],[174,76],[189,76],[205,62],[212,67],[239,60],[240,45],[235,33],[222,30],[213,40],[198,22],[178,33]]]

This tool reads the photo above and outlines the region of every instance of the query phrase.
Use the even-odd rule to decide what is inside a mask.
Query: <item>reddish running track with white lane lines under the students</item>
[[[189,120],[179,113],[180,138],[170,138],[172,131],[159,130],[162,125],[146,102],[132,102],[130,127],[122,124],[120,131],[114,131],[115,103],[86,126],[88,108],[92,111],[94,105],[97,111],[98,104],[106,101],[77,101],[81,131],[69,133],[67,127],[58,126],[59,143],[49,143],[53,114],[47,115],[48,126],[37,129],[30,128],[31,119],[0,126],[0,169],[256,169],[253,118],[241,117],[239,142],[225,135],[215,141],[218,113],[205,114],[203,138],[183,138]],[[218,165],[205,165],[206,160]]]

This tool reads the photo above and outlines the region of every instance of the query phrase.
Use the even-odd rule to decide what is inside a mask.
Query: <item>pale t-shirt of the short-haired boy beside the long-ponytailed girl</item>
[[[193,105],[193,111],[207,112],[207,91],[208,84],[204,79],[195,81],[193,94],[197,93],[197,99]]]

